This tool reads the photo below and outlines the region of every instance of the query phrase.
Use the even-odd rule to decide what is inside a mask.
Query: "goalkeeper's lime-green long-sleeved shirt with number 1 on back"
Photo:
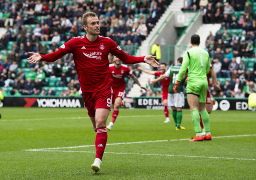
[[[183,62],[177,81],[181,81],[188,69],[189,79],[202,79],[210,70],[209,53],[199,46],[188,49],[183,55]]]

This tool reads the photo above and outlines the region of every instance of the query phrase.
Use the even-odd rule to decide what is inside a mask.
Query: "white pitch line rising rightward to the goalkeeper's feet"
[[[226,135],[226,136],[213,136],[212,138],[228,138],[228,137],[245,137],[245,136],[256,136],[256,135]],[[155,140],[155,141],[137,141],[137,142],[121,142],[106,144],[107,146],[121,145],[121,144],[141,144],[141,143],[154,143],[154,142],[169,142],[169,141],[187,141],[187,139],[169,139],[169,140]],[[95,145],[82,145],[82,146],[71,146],[71,147],[61,147],[61,148],[43,148],[43,149],[32,149],[26,151],[38,151],[38,150],[61,150],[61,149],[75,149],[75,148],[85,148],[85,147],[95,147]]]

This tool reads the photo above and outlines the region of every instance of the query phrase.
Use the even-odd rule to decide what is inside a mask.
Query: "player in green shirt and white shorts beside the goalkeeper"
[[[178,58],[177,65],[170,67],[165,74],[161,75],[157,79],[154,79],[152,83],[156,83],[158,81],[162,81],[166,79],[166,77],[170,77],[171,82],[169,85],[168,91],[168,106],[172,108],[172,117],[175,122],[176,130],[185,130],[185,127],[181,126],[182,120],[182,106],[185,105],[184,99],[184,81],[185,78],[180,82],[177,93],[174,93],[173,86],[175,85],[177,75],[179,73],[180,67],[182,63],[182,57]]]

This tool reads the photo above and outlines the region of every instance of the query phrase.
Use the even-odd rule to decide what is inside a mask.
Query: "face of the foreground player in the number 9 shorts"
[[[90,35],[100,34],[100,21],[98,17],[88,17],[87,26],[84,25],[84,29]]]

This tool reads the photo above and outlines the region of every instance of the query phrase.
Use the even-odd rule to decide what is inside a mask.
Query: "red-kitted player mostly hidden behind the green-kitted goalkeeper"
[[[207,90],[207,94],[206,94],[206,103],[205,103],[205,108],[206,108],[208,114],[210,114],[212,112],[212,106],[213,106],[213,102],[212,102],[212,99],[211,99],[211,92],[209,90],[210,74],[211,74],[212,84],[214,86],[214,89],[215,90],[221,90],[221,88],[216,83],[216,74],[215,74],[215,72],[212,68],[212,65],[210,64],[210,70],[209,70],[209,73],[207,74],[208,90]],[[199,115],[200,115],[200,126],[201,126],[202,131],[203,131],[202,135],[205,135],[205,128],[204,128],[204,125],[203,125],[203,121],[202,121],[200,112],[199,112]],[[209,136],[209,138],[210,137],[211,136]],[[206,136],[205,136],[205,138],[206,138]],[[211,138],[210,139],[205,139],[205,140],[211,140]]]

